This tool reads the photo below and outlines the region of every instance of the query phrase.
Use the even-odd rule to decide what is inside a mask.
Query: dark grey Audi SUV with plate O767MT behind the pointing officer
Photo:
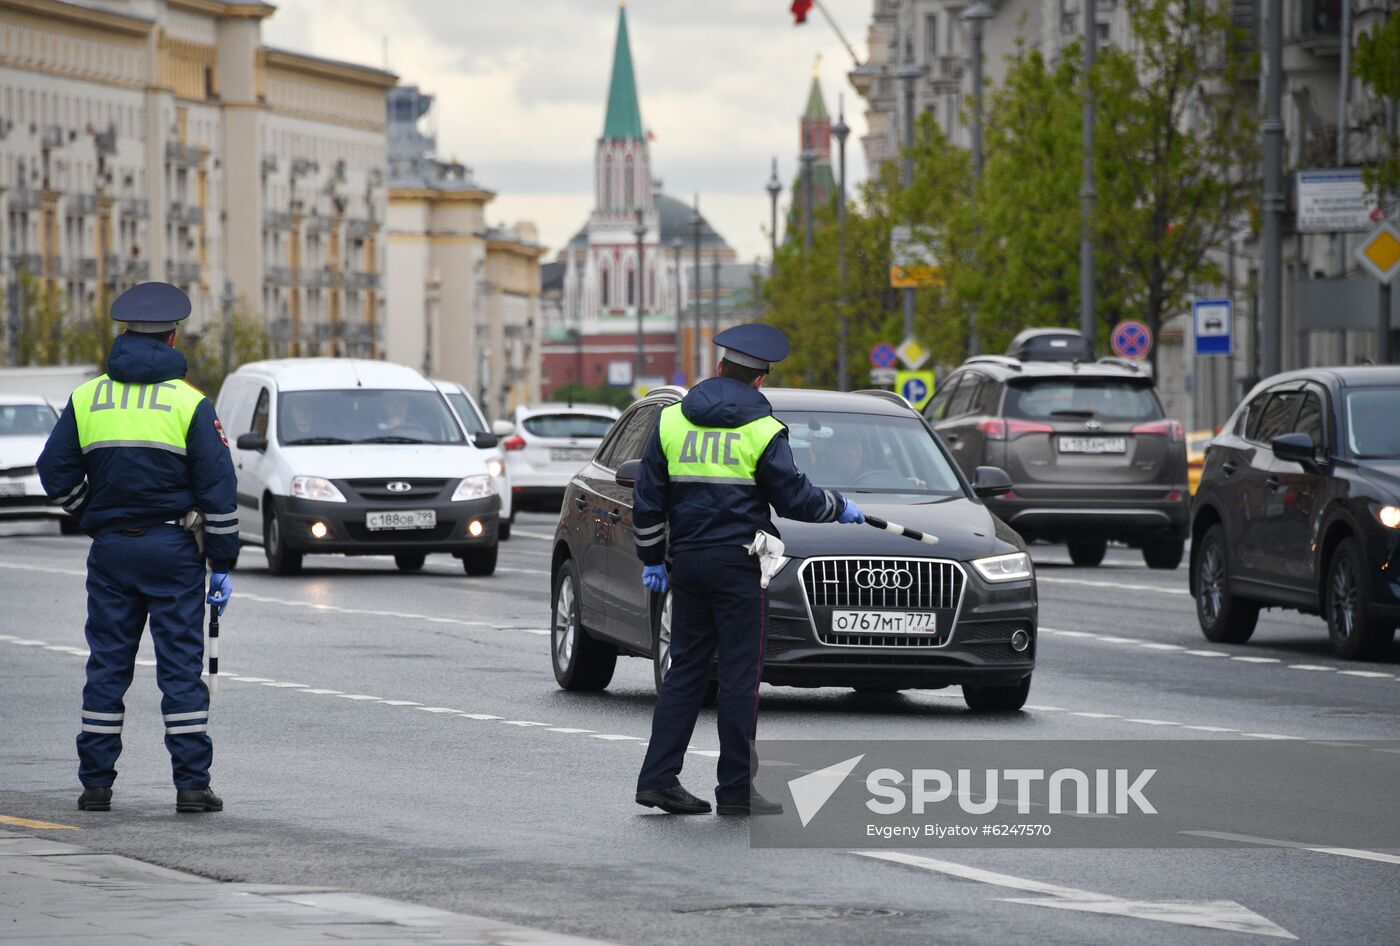
[[[641,585],[631,483],[662,407],[633,404],[574,474],[553,546],[554,677],[601,690],[617,656],[669,666],[669,595]],[[777,519],[788,561],[769,586],[763,680],[864,693],[962,686],[973,710],[1019,710],[1036,655],[1036,582],[1025,543],[983,504],[1009,488],[969,481],[907,402],[888,392],[764,392],[792,456],[867,514],[938,536],[927,546],[871,528]]]

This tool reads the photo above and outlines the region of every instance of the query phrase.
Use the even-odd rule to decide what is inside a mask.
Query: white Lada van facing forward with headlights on
[[[308,553],[391,554],[417,571],[440,551],[468,575],[496,571],[500,497],[483,452],[417,371],[255,361],[224,381],[218,417],[234,435],[239,536],[273,574]]]

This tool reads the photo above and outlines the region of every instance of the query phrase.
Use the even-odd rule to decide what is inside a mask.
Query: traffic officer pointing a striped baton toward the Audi
[[[741,325],[714,337],[718,376],[661,411],[633,488],[633,522],[643,584],[671,588],[671,669],[651,719],[651,743],[637,778],[637,803],[673,814],[710,810],[679,775],[710,665],[720,654],[720,814],[783,810],[753,791],[752,742],[767,602],[759,563],[745,550],[753,533],[777,535],[770,507],[805,522],[861,522],[854,502],[812,486],[792,463],[787,428],[759,393],[787,337],[767,325]],[[666,525],[671,574],[666,574]]]

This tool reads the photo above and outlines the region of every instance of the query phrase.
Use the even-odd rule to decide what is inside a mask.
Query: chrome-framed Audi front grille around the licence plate
[[[802,593],[816,637],[837,647],[944,647],[958,621],[965,584],[962,565],[934,558],[830,557],[802,563]],[[832,630],[834,609],[935,612],[938,634],[837,633]]]

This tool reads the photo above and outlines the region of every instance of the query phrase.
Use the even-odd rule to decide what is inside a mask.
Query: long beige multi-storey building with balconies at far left
[[[73,318],[165,280],[197,333],[227,285],[280,354],[378,354],[396,77],[265,46],[273,11],[0,0],[7,336],[29,273]]]

